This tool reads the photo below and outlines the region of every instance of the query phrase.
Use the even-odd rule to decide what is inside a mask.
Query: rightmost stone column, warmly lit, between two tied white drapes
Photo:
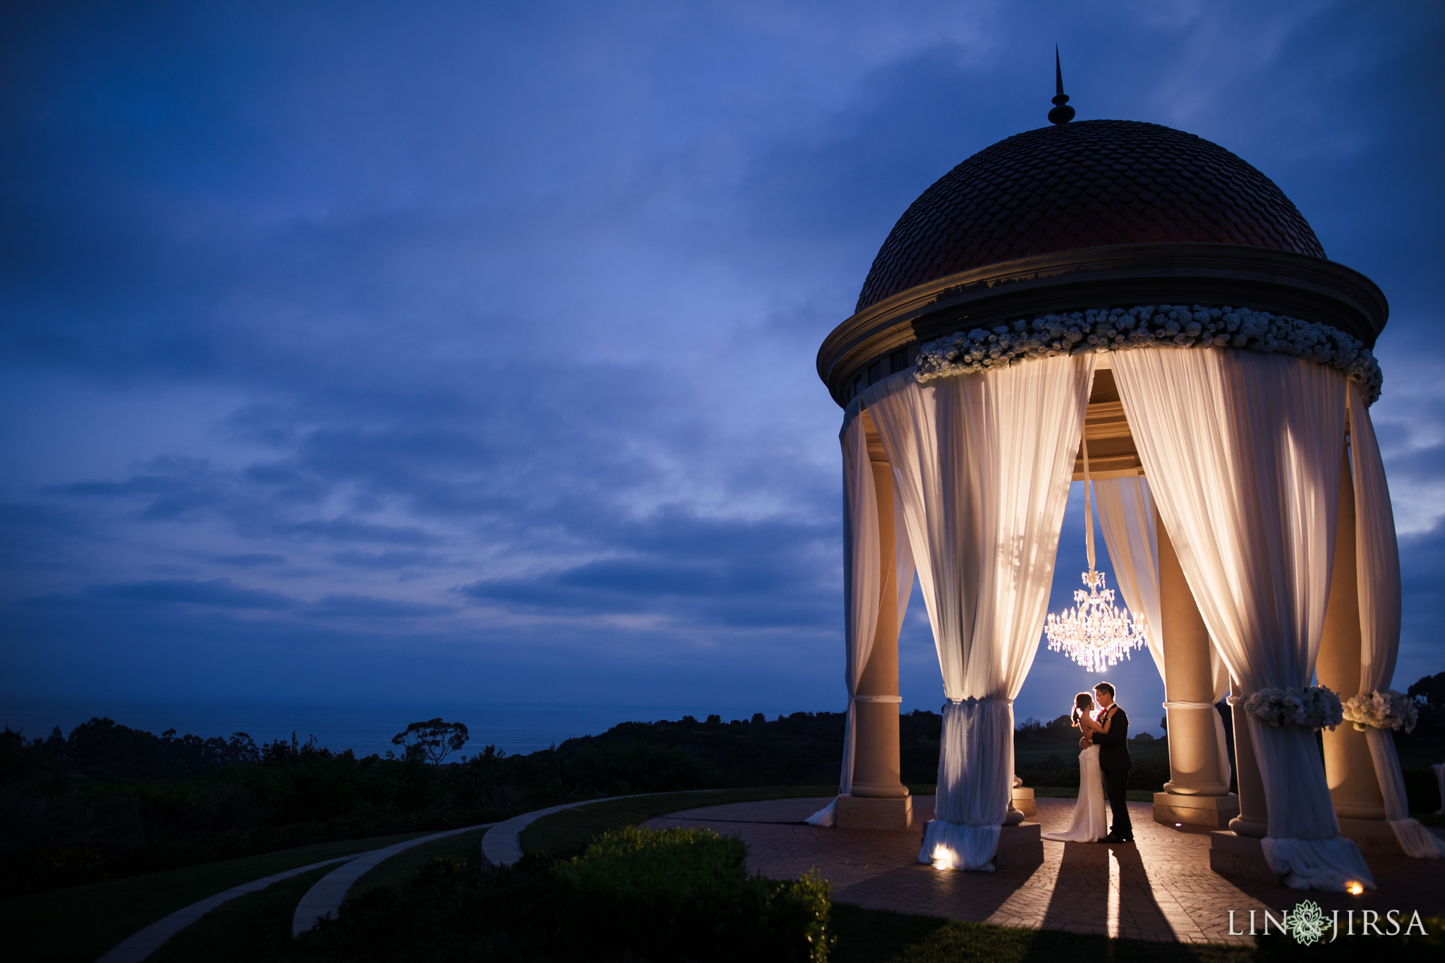
[[[1355,569],[1354,479],[1348,452],[1340,465],[1340,514],[1335,527],[1335,560],[1329,575],[1329,605],[1319,640],[1315,674],[1321,686],[1340,693],[1341,702],[1360,692],[1360,582]],[[1361,852],[1393,852],[1400,846],[1384,823],[1384,797],[1374,774],[1370,744],[1348,722],[1325,729],[1325,778],[1340,817],[1340,835],[1355,840]]]

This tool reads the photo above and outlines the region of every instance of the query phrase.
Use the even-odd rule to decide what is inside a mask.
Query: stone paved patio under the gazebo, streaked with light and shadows
[[[874,910],[894,910],[1013,927],[1098,933],[1163,941],[1253,943],[1230,934],[1248,931],[1250,910],[1276,915],[1299,899],[1325,912],[1402,910],[1406,917],[1445,911],[1445,860],[1370,856],[1377,892],[1348,897],[1299,892],[1209,869],[1209,836],[1201,827],[1155,823],[1146,803],[1130,803],[1137,843],[1055,843],[1045,840],[1043,865],[1007,872],[938,872],[918,862],[923,823],[933,797],[913,798],[907,833],[816,829],[802,823],[827,798],[734,803],[685,810],[644,826],[708,826],[741,836],[749,868],[777,879],[812,866],[832,882],[834,898]],[[1074,800],[1038,800],[1043,832],[1068,829]],[[1358,920],[1358,914],[1355,915]],[[1263,918],[1260,917],[1260,921]],[[1344,930],[1341,930],[1342,933]]]

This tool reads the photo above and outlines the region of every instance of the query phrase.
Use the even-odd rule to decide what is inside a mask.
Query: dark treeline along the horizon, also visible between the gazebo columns
[[[1445,742],[1445,673],[1422,679],[1410,694],[1420,723],[1397,741]],[[941,722],[933,712],[900,716],[905,783],[935,781]],[[318,842],[455,829],[601,796],[829,785],[838,780],[842,733],[842,713],[683,716],[624,722],[526,755],[488,745],[434,765],[416,752],[357,757],[295,735],[263,745],[241,732],[153,735],[110,719],[39,739],[6,729],[0,895]],[[1078,785],[1077,736],[1068,716],[1025,720],[1016,772],[1026,785]],[[1166,752],[1140,749],[1130,787],[1157,791],[1169,778]],[[1406,772],[1406,785],[1412,798],[1433,798],[1428,771]]]

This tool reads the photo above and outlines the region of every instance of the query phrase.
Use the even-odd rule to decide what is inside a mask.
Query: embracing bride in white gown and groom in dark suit
[[[1043,833],[1045,839],[1065,843],[1131,843],[1134,827],[1129,822],[1124,790],[1129,771],[1129,716],[1114,702],[1114,687],[1107,681],[1094,686],[1094,694],[1081,692],[1074,699],[1074,726],[1079,739],[1079,798],[1074,822],[1066,832]],[[1104,791],[1114,810],[1114,826],[1104,835]]]

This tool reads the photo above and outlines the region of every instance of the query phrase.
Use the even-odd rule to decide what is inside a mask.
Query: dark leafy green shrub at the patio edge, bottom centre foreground
[[[553,873],[577,897],[577,938],[600,954],[821,963],[832,946],[827,881],[749,876],[743,840],[712,830],[611,830]]]

